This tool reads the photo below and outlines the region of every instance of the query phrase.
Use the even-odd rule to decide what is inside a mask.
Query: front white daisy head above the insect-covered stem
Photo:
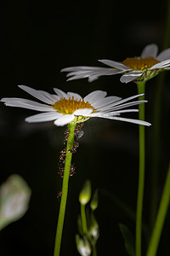
[[[49,94],[43,90],[34,90],[26,85],[19,85],[19,87],[41,102],[46,103],[42,104],[21,98],[3,98],[1,100],[6,106],[28,108],[42,112],[26,118],[26,122],[28,123],[54,120],[54,125],[63,126],[71,122],[80,123],[89,118],[99,117],[150,126],[150,123],[142,120],[119,117],[121,113],[138,112],[138,109],[123,108],[146,102],[131,101],[140,95],[122,99],[117,96],[106,97],[106,91],[94,90],[82,99],[82,96],[77,93],[65,93],[57,88],[54,88],[56,94]]]

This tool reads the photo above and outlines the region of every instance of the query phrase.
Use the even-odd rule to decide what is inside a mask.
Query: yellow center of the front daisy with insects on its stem
[[[54,105],[52,105],[54,109],[56,109],[60,113],[64,114],[71,114],[75,112],[75,110],[80,109],[80,108],[93,108],[94,107],[88,103],[84,102],[84,100],[74,100],[74,96],[69,99],[65,98],[60,98],[58,102],[55,102]]]

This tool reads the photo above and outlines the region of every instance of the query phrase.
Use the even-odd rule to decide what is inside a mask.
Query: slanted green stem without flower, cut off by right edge
[[[156,224],[150,239],[150,244],[146,256],[155,256],[157,247],[161,237],[161,230],[167,214],[168,205],[170,202],[170,163],[167,171],[167,177],[161,196],[161,203],[157,213]]]

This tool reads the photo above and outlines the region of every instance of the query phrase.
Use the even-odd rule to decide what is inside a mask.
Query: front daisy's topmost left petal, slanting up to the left
[[[37,98],[38,100],[40,100],[42,102],[48,103],[50,105],[52,105],[54,103],[53,100],[49,99],[49,97],[47,95],[45,95],[45,93],[46,93],[45,91],[35,90],[26,85],[18,85],[18,86],[20,87],[20,89],[25,90],[31,96],[34,96],[35,98]]]

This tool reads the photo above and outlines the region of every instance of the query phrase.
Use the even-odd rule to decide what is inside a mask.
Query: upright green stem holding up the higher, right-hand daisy
[[[144,93],[145,82],[137,83],[139,94]],[[144,96],[139,96],[144,100]],[[139,104],[139,119],[144,120],[144,104]],[[141,256],[142,211],[144,198],[144,125],[139,125],[139,188],[136,213],[136,256]]]

